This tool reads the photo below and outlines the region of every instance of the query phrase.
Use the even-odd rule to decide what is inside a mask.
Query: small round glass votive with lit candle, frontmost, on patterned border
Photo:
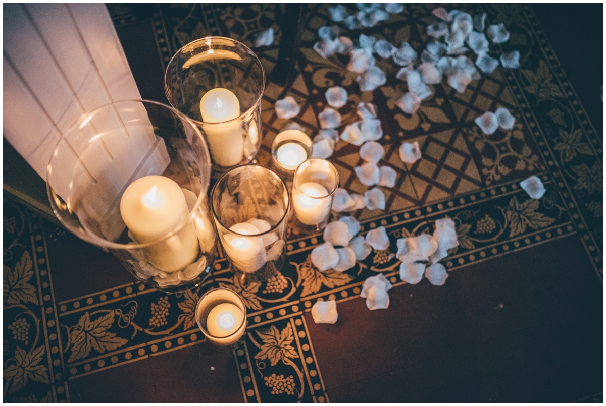
[[[231,289],[211,289],[196,305],[196,322],[213,349],[228,351],[246,331],[246,305]]]

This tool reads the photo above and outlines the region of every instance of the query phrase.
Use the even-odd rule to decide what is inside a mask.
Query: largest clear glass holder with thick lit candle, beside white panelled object
[[[84,114],[47,169],[65,228],[116,255],[165,292],[198,287],[216,256],[206,192],[210,156],[199,128],[170,106],[127,100]]]

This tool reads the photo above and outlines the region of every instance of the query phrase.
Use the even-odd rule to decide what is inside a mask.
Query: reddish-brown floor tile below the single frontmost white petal
[[[314,344],[326,390],[399,368],[388,324],[397,319],[390,309],[370,311],[362,298],[339,303],[336,324],[305,322]]]

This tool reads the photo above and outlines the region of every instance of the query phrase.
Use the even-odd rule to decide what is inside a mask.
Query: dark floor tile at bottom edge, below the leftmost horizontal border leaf
[[[158,402],[149,359],[68,381],[72,402]]]

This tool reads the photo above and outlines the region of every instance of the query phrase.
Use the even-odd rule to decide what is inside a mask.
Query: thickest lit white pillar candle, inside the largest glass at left
[[[138,243],[158,240],[189,216],[185,196],[174,180],[150,175],[128,185],[120,200],[122,220]],[[175,235],[144,249],[159,270],[176,272],[198,257],[198,238],[191,221]]]

